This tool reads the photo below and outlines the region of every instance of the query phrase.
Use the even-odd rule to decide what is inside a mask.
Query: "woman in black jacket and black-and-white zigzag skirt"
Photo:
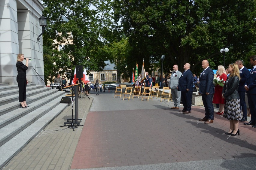
[[[227,68],[230,76],[225,82],[222,98],[226,100],[224,105],[224,114],[223,117],[226,117],[229,120],[230,128],[226,135],[235,136],[240,135],[238,129],[239,120],[241,120],[241,110],[240,110],[240,98],[238,94],[239,86],[239,68],[237,64],[229,64]]]

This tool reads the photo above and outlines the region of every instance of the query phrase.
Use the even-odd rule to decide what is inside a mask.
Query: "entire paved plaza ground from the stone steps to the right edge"
[[[159,98],[89,97],[79,100],[84,127],[59,128],[71,118],[69,106],[4,169],[256,168],[256,128],[239,123],[240,136],[228,136],[229,122],[221,115],[209,125],[198,121],[202,107],[182,114]]]

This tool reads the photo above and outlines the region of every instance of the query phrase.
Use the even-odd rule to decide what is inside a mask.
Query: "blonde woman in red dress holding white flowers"
[[[217,77],[220,77],[220,79],[223,79],[223,81],[226,81],[227,80],[227,73],[225,71],[224,66],[219,65],[217,71],[218,71]],[[222,99],[222,97],[221,97],[222,96],[222,90],[223,90],[223,87],[216,84],[215,93],[213,95],[212,103],[219,104],[219,111],[217,112],[217,114],[223,114],[223,112],[224,112],[224,99]]]

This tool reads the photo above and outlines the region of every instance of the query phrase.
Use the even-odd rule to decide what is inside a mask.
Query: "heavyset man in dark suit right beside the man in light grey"
[[[179,112],[188,114],[191,111],[193,93],[193,74],[190,71],[189,63],[184,65],[184,70],[178,83],[178,90],[181,91],[181,101],[184,108]]]

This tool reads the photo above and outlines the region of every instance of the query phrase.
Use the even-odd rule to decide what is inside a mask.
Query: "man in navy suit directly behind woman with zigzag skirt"
[[[238,87],[238,94],[240,97],[240,109],[243,111],[243,117],[241,120],[239,120],[240,122],[244,122],[247,121],[247,106],[245,103],[245,82],[248,79],[249,75],[250,75],[250,71],[243,66],[243,62],[241,60],[237,60],[235,62],[238,65],[239,68],[239,75],[240,75],[240,81],[239,81],[239,87]]]

